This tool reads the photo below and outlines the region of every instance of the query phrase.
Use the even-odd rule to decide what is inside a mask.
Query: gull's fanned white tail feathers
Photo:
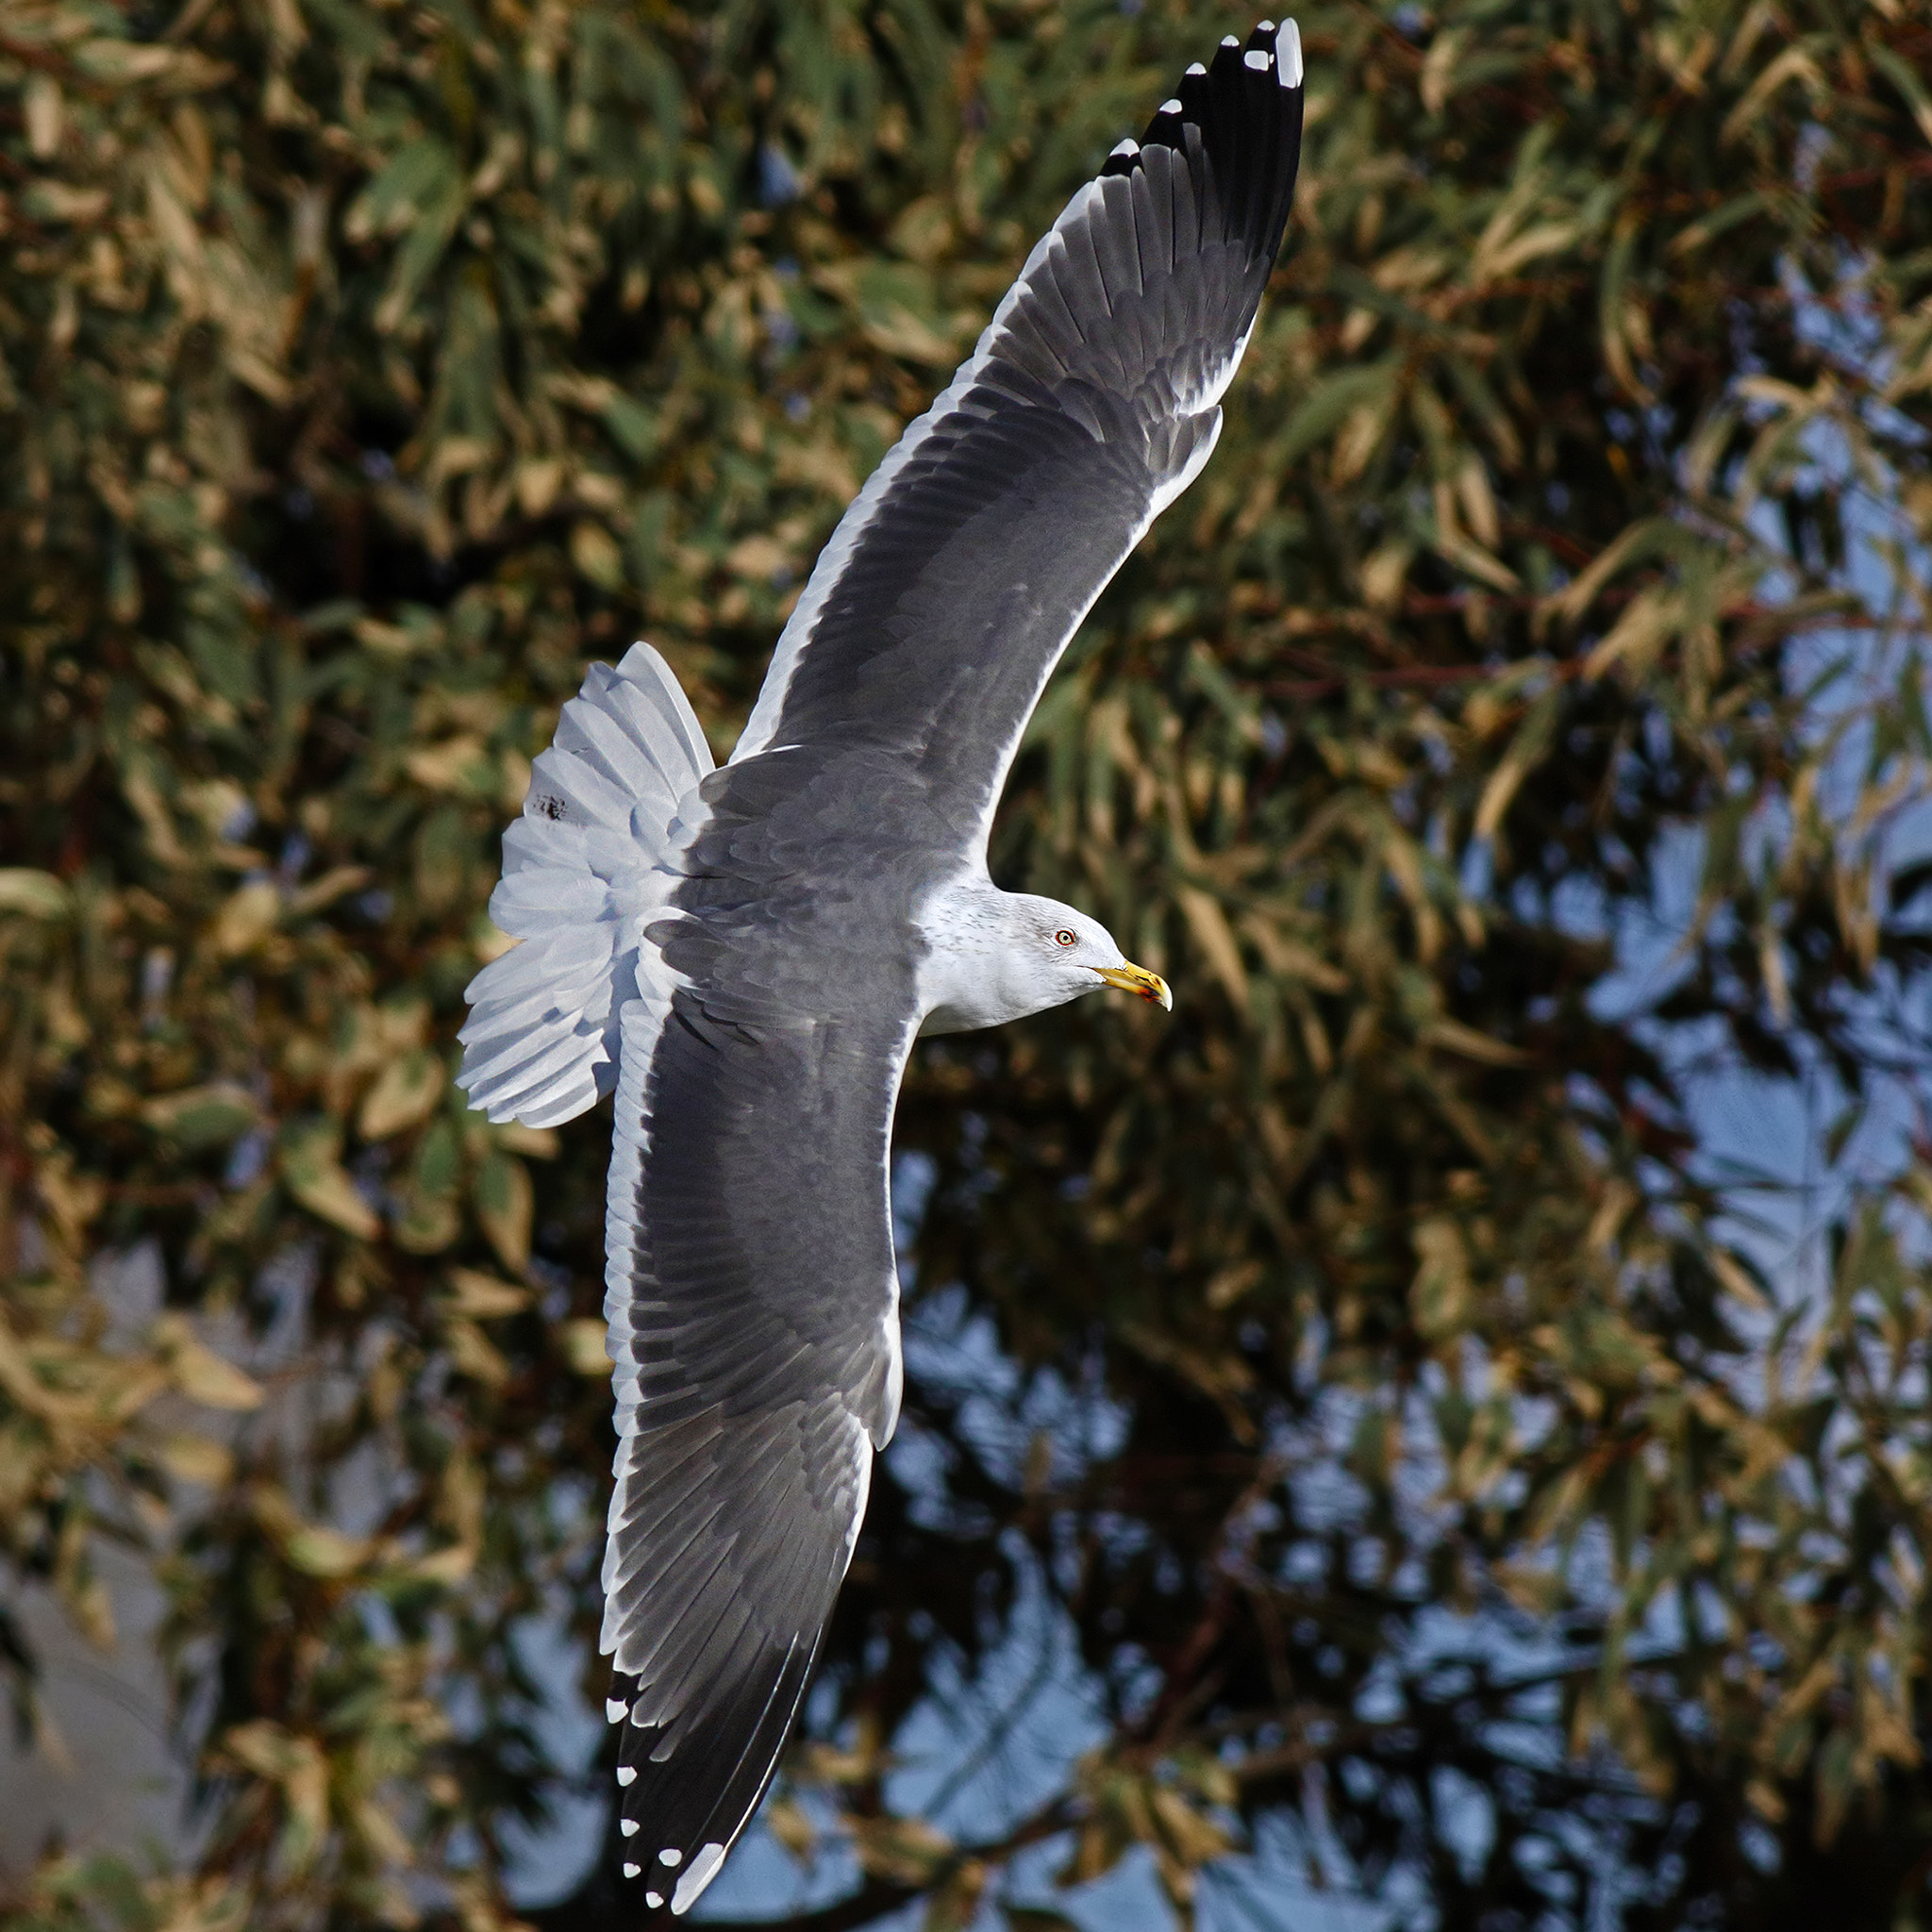
[[[493,1121],[556,1126],[616,1086],[618,1014],[638,997],[643,914],[676,885],[680,810],[711,748],[647,643],[591,665],[502,835],[489,916],[524,943],[469,981],[456,1084]]]

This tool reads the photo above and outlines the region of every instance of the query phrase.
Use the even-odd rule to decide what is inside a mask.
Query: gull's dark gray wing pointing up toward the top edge
[[[734,763],[887,752],[983,846],[1066,639],[1213,448],[1300,131],[1300,39],[1264,21],[1115,149],[846,512]]]

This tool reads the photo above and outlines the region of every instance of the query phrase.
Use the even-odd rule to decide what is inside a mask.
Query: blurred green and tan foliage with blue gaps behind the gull
[[[0,1922],[593,1932],[603,1111],[448,1086],[529,759],[719,753],[1252,17],[0,8]],[[906,1418],[724,1922],[1932,1922],[1932,15],[1318,0],[1202,481],[929,1041]]]

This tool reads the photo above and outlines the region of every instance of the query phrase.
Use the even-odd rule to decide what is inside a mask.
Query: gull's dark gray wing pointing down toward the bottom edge
[[[761,923],[653,927],[676,985],[626,1009],[616,1095],[603,1648],[626,1876],[678,1913],[771,1779],[898,1412],[887,1150],[910,983],[808,1016],[806,939]]]

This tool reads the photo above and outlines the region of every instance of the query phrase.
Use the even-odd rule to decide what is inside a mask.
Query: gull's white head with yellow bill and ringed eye
[[[920,923],[927,943],[922,1034],[1001,1026],[1103,985],[1169,1012],[1175,1005],[1167,981],[1134,966],[1099,920],[1057,898],[981,885],[937,896]]]

